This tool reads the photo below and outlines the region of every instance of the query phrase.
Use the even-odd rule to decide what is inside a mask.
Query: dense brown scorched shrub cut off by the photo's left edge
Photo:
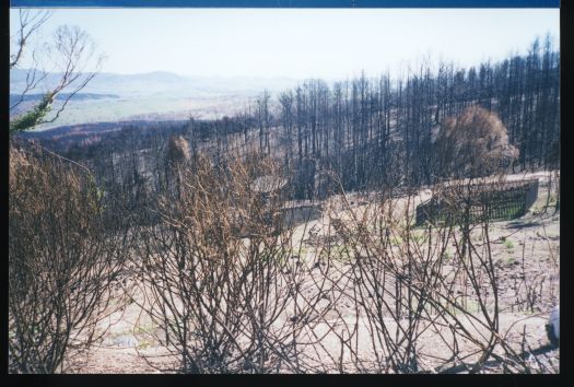
[[[108,235],[91,175],[49,154],[10,150],[9,370],[55,373],[102,335],[126,234]]]

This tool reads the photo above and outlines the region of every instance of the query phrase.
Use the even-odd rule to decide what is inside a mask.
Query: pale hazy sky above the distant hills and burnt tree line
[[[106,54],[105,72],[332,79],[429,55],[497,60],[547,32],[558,46],[559,20],[559,9],[59,9],[43,34],[81,26]]]

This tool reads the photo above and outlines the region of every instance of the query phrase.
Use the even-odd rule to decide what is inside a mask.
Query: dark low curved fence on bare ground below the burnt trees
[[[417,207],[417,225],[425,222],[504,221],[523,216],[538,197],[538,179],[445,188]]]

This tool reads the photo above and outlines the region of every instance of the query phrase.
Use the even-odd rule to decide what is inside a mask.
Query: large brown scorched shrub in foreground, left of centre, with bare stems
[[[197,155],[178,174],[179,196],[163,198],[161,222],[141,230],[137,262],[141,306],[179,359],[174,370],[298,372],[297,338],[317,319],[318,296],[302,295],[306,271],[292,259],[279,196],[254,187],[279,171],[256,156],[214,165]]]

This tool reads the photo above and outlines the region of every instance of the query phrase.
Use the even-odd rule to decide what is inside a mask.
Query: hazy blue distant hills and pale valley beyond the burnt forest
[[[25,69],[10,71],[11,101],[17,101],[25,90],[27,73]],[[21,104],[19,110],[11,112],[11,115],[39,101],[42,93],[50,90],[60,79],[59,73],[48,73],[42,84],[27,93],[25,104]],[[142,74],[103,72],[73,96],[55,122],[36,129],[133,119],[186,119],[190,115],[213,118],[237,112],[263,90],[274,93],[293,87],[297,82],[290,78],[184,77],[166,71]],[[61,103],[65,96],[62,93],[55,105]]]

